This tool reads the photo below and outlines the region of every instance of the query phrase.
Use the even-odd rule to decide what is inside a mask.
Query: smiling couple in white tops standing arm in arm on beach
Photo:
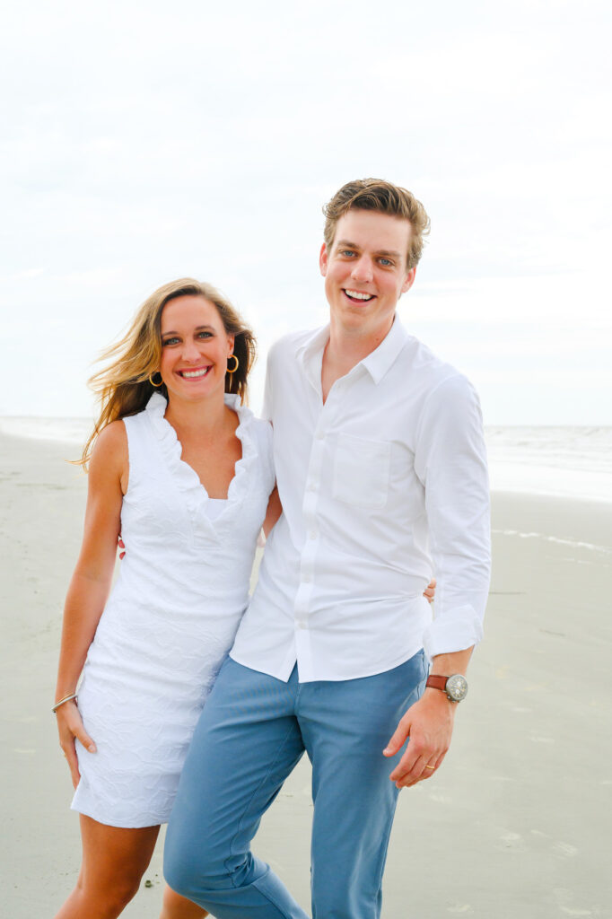
[[[325,216],[330,325],[272,348],[274,437],[241,404],[253,337],[206,285],[156,291],[98,380],[55,706],[84,854],[58,919],[119,915],[175,798],[164,919],[305,919],[250,852],[304,750],[312,914],[378,917],[398,790],[448,750],[488,590],[478,399],[395,317],[423,206],[366,179]]]

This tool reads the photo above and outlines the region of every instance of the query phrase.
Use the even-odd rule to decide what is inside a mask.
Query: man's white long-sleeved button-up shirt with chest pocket
[[[272,347],[264,414],[274,425],[283,514],[267,540],[231,656],[301,682],[391,670],[420,648],[482,638],[489,490],[470,382],[395,319],[323,404],[329,328]],[[435,618],[423,596],[437,578]]]

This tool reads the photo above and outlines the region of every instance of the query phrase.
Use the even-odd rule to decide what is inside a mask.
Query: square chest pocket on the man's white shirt
[[[389,494],[391,443],[339,434],[332,494],[356,507],[384,507]]]

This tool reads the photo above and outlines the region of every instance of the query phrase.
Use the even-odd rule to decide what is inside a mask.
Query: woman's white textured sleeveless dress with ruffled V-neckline
[[[181,459],[166,402],[124,419],[127,555],[85,663],[78,707],[97,753],[76,743],[72,807],[99,823],[167,821],[198,715],[248,603],[255,543],[274,487],[272,429],[226,395],[243,456],[226,502]]]

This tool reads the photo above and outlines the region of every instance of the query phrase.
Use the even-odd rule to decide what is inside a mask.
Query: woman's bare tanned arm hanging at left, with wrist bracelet
[[[120,421],[114,422],[98,437],[89,465],[83,545],[63,610],[57,701],[75,692],[89,645],[107,602],[128,470],[125,425]],[[77,737],[91,753],[96,751],[96,744],[85,732],[74,700],[64,702],[56,714],[60,745],[76,788],[80,776],[74,738]]]

